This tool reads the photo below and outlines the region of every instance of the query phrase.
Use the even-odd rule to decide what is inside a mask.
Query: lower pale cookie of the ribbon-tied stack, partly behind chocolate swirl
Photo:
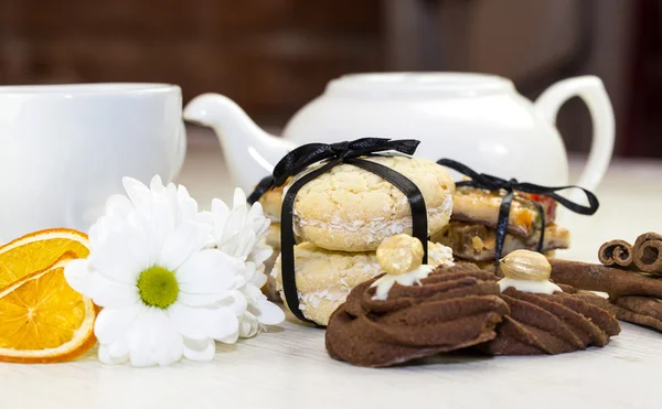
[[[428,243],[428,263],[452,266],[452,251],[446,246]],[[299,309],[307,319],[320,325],[328,324],[333,311],[345,301],[354,287],[382,272],[375,251],[331,251],[308,241],[295,246]],[[271,276],[285,300],[280,257]]]

